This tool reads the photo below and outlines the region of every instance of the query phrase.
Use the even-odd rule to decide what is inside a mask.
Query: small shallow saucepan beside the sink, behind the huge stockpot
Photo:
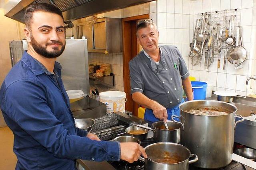
[[[217,100],[222,102],[233,102],[234,98],[246,98],[244,96],[239,96],[236,92],[218,90],[213,92],[217,95]]]

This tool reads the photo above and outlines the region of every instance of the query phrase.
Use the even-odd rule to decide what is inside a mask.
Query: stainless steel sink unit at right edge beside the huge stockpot
[[[234,141],[247,147],[256,149],[256,115],[251,115],[251,111],[256,113],[256,107],[240,103],[230,103],[237,107],[237,115],[242,115],[244,121],[238,123],[235,129]],[[236,117],[236,121],[241,118]]]

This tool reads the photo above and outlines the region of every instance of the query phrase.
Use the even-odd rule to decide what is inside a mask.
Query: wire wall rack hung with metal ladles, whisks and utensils
[[[231,24],[233,17],[233,24]],[[228,33],[228,36],[230,36],[232,31],[233,37],[236,38],[236,27],[240,26],[240,19],[241,10],[239,9],[222,10],[198,14],[196,16],[193,40],[190,43],[189,59],[192,65],[200,64],[202,57],[205,57],[204,68],[208,69],[208,66],[210,66],[211,63],[214,62],[214,58],[217,58],[220,52],[223,53],[224,49],[229,49],[232,45],[228,45],[226,43],[226,33]],[[230,26],[233,29],[230,30]],[[214,29],[216,30],[212,31]],[[223,31],[220,31],[220,29],[223,29]],[[211,33],[213,34],[212,36]],[[220,33],[222,35],[220,35]],[[201,35],[201,39],[200,37],[198,38],[198,35]],[[204,43],[198,42],[198,40],[202,41],[202,37],[204,37]],[[208,50],[208,56],[205,56],[205,53],[203,53],[203,51],[205,51],[206,49]]]

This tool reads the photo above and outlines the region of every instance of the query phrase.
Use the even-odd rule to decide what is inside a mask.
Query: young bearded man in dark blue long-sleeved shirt
[[[24,15],[28,51],[0,89],[0,108],[14,133],[16,169],[74,170],[76,159],[127,160],[146,153],[137,143],[100,141],[75,127],[56,58],[65,49],[60,10],[32,4]]]

